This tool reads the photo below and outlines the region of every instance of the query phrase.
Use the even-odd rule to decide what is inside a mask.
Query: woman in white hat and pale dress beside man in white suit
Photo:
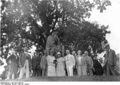
[[[61,53],[57,53],[57,76],[65,76],[65,59],[61,57]]]

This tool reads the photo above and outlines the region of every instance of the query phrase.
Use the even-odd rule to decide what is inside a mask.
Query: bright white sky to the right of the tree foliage
[[[93,10],[90,21],[97,21],[98,24],[109,25],[111,34],[106,38],[109,44],[116,53],[120,53],[120,0],[111,0],[112,6],[107,7],[107,10],[100,13],[98,10]]]

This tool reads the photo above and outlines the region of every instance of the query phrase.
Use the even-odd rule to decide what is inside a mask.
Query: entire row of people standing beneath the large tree
[[[120,70],[117,62],[115,51],[110,49],[108,44],[105,45],[104,61],[99,60],[96,56],[90,56],[88,51],[81,50],[71,51],[65,50],[65,56],[61,51],[56,54],[54,50],[44,51],[40,55],[31,56],[25,47],[23,51],[16,54],[12,52],[7,58],[6,79],[22,79],[31,76],[48,76],[48,77],[64,77],[64,76],[93,76],[93,75],[119,75],[116,69]],[[116,65],[119,65],[116,67]],[[36,69],[37,68],[37,69]]]

